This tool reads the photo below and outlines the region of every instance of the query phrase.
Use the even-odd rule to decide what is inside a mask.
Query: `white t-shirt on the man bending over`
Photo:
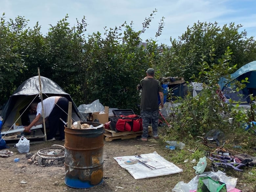
[[[44,99],[43,100],[43,105],[44,105],[44,118],[46,118],[50,115],[50,113],[53,110],[53,107],[55,106],[55,96],[48,97],[48,98]],[[41,116],[43,116],[43,110],[42,110],[42,103],[41,102],[37,104],[36,116],[39,113],[41,114]]]

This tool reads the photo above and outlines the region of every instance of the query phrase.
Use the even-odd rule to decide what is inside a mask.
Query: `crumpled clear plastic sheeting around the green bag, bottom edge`
[[[206,176],[210,177],[214,181],[221,181],[221,182],[225,183],[227,186],[227,192],[229,192],[229,191],[231,192],[236,187],[237,179],[233,178],[233,177],[227,177],[225,175],[225,173],[223,173],[222,171],[219,170],[216,173],[215,172],[204,172],[203,174],[197,175],[196,177],[194,177],[188,183],[184,183],[183,181],[180,181],[175,185],[175,187],[172,189],[172,191],[175,191],[175,192],[190,192],[193,190],[196,191],[199,178],[206,177]]]

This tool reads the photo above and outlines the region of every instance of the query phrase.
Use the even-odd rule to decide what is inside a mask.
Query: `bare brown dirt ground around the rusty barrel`
[[[55,140],[31,144],[30,152],[36,153],[38,150],[51,147],[53,144],[64,146],[64,141]],[[156,145],[149,146],[153,144]],[[183,169],[181,173],[135,180],[128,171],[118,165],[113,159],[114,157],[147,154],[154,151],[164,157],[166,153],[171,153],[171,151],[167,152],[164,146],[161,146],[160,142],[155,139],[149,139],[148,142],[140,142],[137,139],[117,139],[110,142],[104,141],[103,183],[87,189],[77,189],[65,184],[65,165],[61,167],[36,166],[27,163],[25,154],[20,154],[16,148],[10,148],[10,150],[14,153],[13,156],[0,158],[0,191],[3,192],[169,192],[179,181],[187,183],[193,178],[187,177],[187,174],[184,173],[185,169],[190,172],[195,171],[192,168],[194,165],[184,165],[184,160],[181,160],[181,164],[176,164]],[[20,161],[14,162],[15,158],[19,158]],[[26,183],[22,184],[21,181]],[[246,190],[246,184],[240,183],[237,188],[243,192],[251,192],[251,190]]]

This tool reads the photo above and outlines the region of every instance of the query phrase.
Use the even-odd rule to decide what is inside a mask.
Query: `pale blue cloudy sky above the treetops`
[[[156,39],[160,19],[165,17],[162,35],[158,43],[170,45],[170,37],[178,38],[198,20],[215,22],[219,26],[234,22],[242,24],[242,30],[248,37],[255,36],[256,31],[255,0],[0,0],[0,13],[5,12],[5,19],[25,16],[29,26],[36,22],[41,25],[41,32],[46,35],[50,26],[68,14],[70,26],[81,21],[83,15],[88,23],[87,34],[104,33],[104,27],[119,27],[125,21],[134,23],[134,30],[142,29],[142,23],[153,10],[157,9],[154,19],[144,34],[145,39]],[[254,38],[255,39],[255,38]]]

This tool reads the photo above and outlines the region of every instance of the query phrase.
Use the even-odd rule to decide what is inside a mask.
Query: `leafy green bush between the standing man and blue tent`
[[[193,75],[196,82],[203,83],[203,91],[196,97],[193,97],[193,94],[188,94],[184,99],[178,99],[176,102],[180,102],[180,105],[172,109],[174,114],[170,118],[173,131],[181,133],[177,135],[176,139],[199,136],[212,129],[231,129],[232,125],[224,121],[224,118],[229,117],[227,113],[231,115],[232,106],[223,102],[218,97],[216,90],[219,89],[217,86],[219,78],[227,76],[235,69],[230,66],[229,62],[232,53],[228,49],[221,58],[215,59],[213,52],[214,50],[211,50],[209,54],[212,58],[211,63],[204,61],[204,58],[207,57],[203,57],[198,69],[198,77]],[[218,62],[215,63],[215,60]],[[225,112],[225,116],[223,116],[223,112]],[[233,124],[233,126],[236,125]],[[167,134],[166,137],[168,138],[170,135]]]

